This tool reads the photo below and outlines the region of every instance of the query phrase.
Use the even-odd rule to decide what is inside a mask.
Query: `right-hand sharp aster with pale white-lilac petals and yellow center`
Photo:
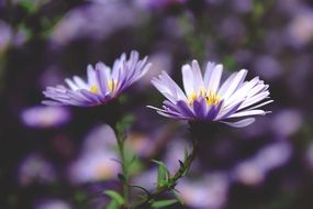
[[[246,69],[233,73],[222,85],[223,65],[208,63],[204,77],[197,61],[183,65],[183,89],[163,72],[152,80],[167,98],[163,109],[156,109],[164,117],[189,121],[220,121],[232,127],[246,127],[255,121],[253,117],[267,111],[259,108],[269,100],[268,85],[258,77],[245,81]]]

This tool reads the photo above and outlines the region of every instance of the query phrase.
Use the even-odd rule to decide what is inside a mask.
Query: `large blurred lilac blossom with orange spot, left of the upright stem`
[[[114,132],[109,125],[92,130],[82,143],[80,156],[69,166],[70,182],[82,184],[115,178],[120,164],[114,161],[119,160],[112,147],[114,141]]]

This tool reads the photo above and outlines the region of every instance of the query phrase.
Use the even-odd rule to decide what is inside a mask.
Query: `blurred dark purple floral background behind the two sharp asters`
[[[246,68],[269,84],[272,113],[208,139],[177,187],[185,205],[172,208],[313,208],[312,1],[0,0],[1,209],[98,209],[109,202],[103,189],[121,189],[105,107],[41,101],[46,86],[131,50],[153,63],[123,96],[135,118],[134,184],[154,188],[149,160],[174,172],[189,143],[186,123],[145,108],[163,100],[150,78],[166,70],[181,84],[182,64],[212,61],[225,75]]]

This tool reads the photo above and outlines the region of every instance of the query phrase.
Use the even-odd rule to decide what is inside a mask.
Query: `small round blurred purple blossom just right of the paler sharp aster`
[[[281,136],[294,134],[302,125],[303,117],[298,110],[288,109],[277,112],[272,120],[272,131]]]

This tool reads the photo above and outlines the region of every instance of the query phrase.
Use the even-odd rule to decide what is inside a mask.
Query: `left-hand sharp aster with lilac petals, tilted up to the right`
[[[138,80],[149,68],[147,57],[139,59],[133,51],[128,59],[122,54],[112,69],[103,63],[87,67],[87,81],[78,76],[66,78],[66,86],[47,87],[43,94],[52,100],[43,101],[53,106],[90,107],[107,103],[118,97],[125,88]]]

